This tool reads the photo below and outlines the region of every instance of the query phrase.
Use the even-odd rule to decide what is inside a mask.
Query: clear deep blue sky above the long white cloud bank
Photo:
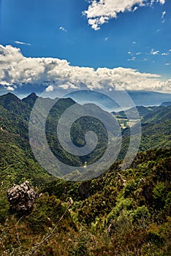
[[[137,69],[161,75],[170,86],[171,1],[142,0],[144,6],[132,4],[130,11],[126,0],[115,6],[104,0],[116,18],[100,16],[99,1],[94,2],[93,9],[85,0],[0,0],[0,44],[20,48],[25,57],[64,59],[74,67]],[[115,11],[117,3],[123,12]]]

